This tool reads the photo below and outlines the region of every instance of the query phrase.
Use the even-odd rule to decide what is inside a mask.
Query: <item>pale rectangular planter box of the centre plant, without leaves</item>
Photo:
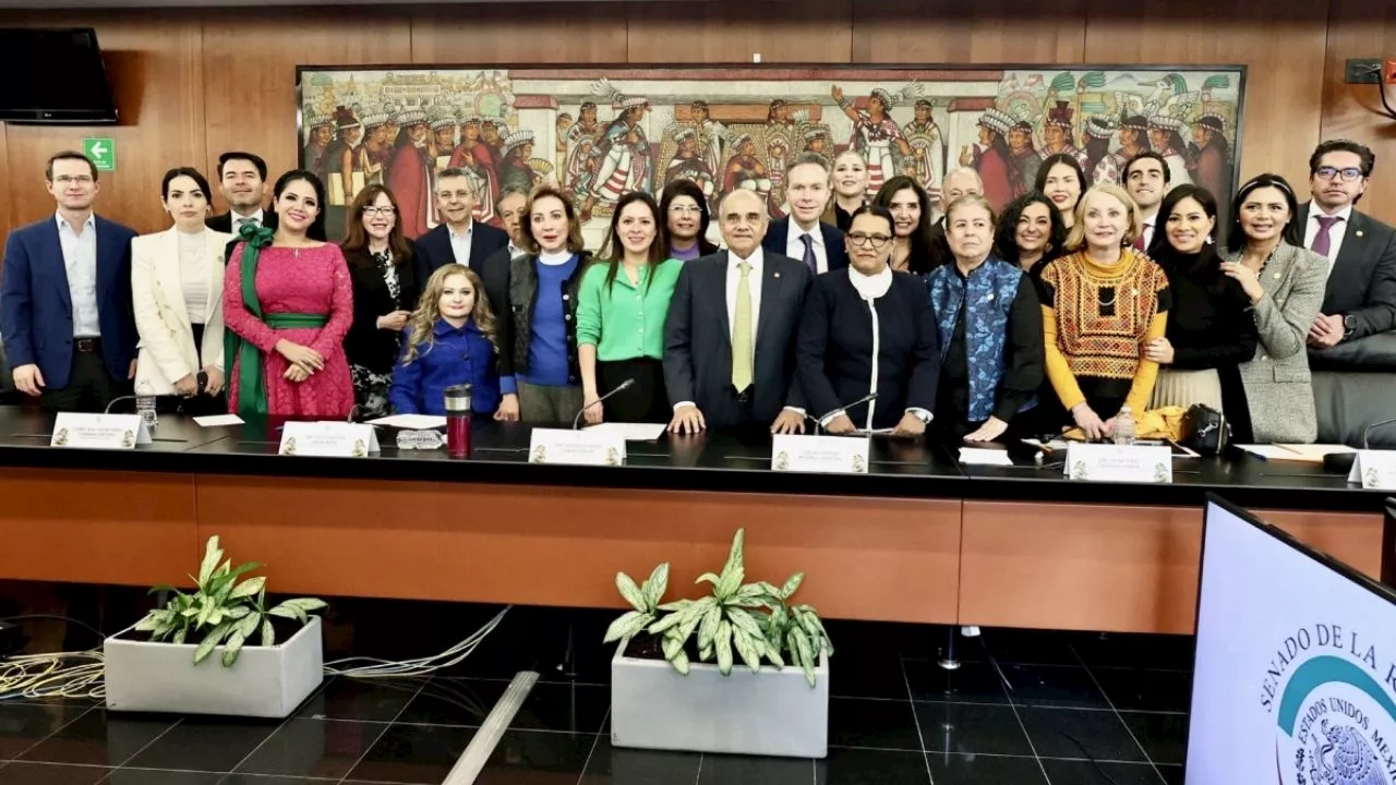
[[[737,659],[732,676],[694,662],[687,676],[663,659],[611,659],[611,744],[651,750],[822,758],[829,751],[829,658],[814,687],[799,668]]]

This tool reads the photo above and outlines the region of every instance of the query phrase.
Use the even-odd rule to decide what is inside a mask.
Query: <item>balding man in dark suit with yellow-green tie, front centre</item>
[[[814,277],[762,250],[766,205],[755,191],[727,194],[718,212],[729,250],[684,264],[664,321],[669,430],[804,433],[794,345]]]

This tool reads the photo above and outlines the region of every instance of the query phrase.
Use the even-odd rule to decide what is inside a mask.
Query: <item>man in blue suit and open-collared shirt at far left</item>
[[[45,170],[57,212],[10,233],[0,337],[18,391],[50,411],[101,412],[135,377],[131,237],[92,212],[101,184],[81,152]]]

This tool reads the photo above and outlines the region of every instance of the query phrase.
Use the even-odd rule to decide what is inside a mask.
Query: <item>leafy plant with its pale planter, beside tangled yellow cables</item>
[[[324,680],[320,617],[310,612],[325,603],[267,608],[267,578],[243,577],[260,567],[233,567],[211,536],[193,594],[151,589],[173,596],[102,647],[106,707],[279,718],[300,705]]]

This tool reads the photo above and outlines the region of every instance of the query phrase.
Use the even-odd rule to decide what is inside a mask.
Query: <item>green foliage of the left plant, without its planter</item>
[[[194,650],[194,665],[208,659],[219,644],[223,644],[223,666],[232,666],[253,637],[261,636],[261,645],[276,643],[276,630],[271,617],[279,616],[306,624],[310,612],[325,608],[325,602],[313,598],[288,599],[275,608],[267,608],[267,578],[257,575],[239,581],[240,577],[262,567],[260,562],[248,562],[233,567],[232,560],[223,560],[218,536],[208,538],[204,562],[198,577],[190,575],[197,587],[186,594],[174,587],[159,585],[151,592],[169,591],[174,595],[163,608],[156,608],[135,624],[135,630],[149,633],[152,641],[169,640],[173,644],[202,638]]]

